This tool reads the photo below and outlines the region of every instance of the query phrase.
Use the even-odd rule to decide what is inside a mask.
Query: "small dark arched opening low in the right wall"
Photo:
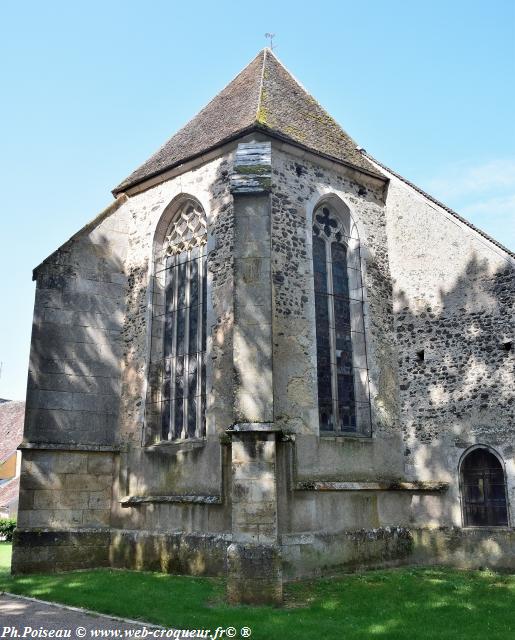
[[[468,453],[461,463],[463,524],[466,527],[508,526],[504,469],[486,448]]]

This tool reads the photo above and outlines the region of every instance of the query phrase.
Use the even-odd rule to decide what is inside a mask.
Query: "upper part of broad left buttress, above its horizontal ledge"
[[[122,201],[35,270],[28,441],[109,445],[116,439],[127,282]]]

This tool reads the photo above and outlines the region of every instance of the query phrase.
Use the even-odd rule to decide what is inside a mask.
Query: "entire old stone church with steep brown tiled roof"
[[[514,253],[270,49],[113,194],[34,270],[14,572],[515,568]]]

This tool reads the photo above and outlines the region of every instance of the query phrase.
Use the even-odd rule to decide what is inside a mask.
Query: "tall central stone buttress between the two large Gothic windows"
[[[271,281],[271,144],[240,143],[234,198],[231,602],[280,602]]]

